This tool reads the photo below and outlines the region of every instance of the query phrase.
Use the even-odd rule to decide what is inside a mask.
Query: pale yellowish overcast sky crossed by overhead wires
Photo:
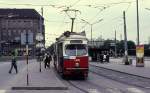
[[[43,7],[45,19],[46,46],[55,42],[63,32],[70,31],[71,19],[74,12],[64,10],[79,10],[76,12],[74,32],[85,31],[90,39],[90,25],[82,21],[86,20],[93,24],[100,19],[102,21],[93,24],[93,39],[114,39],[115,31],[117,39],[124,39],[123,11],[126,12],[127,39],[136,43],[136,0],[0,0],[0,8],[34,8],[41,13]],[[140,44],[150,40],[150,0],[139,0],[139,25]]]

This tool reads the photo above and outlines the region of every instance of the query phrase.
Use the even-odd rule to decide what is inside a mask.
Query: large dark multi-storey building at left
[[[41,31],[40,31],[41,27]],[[14,49],[18,55],[25,52],[23,41],[26,32],[29,35],[29,54],[35,55],[36,34],[42,33],[45,45],[44,18],[34,9],[0,9],[0,52],[2,55],[10,55]]]

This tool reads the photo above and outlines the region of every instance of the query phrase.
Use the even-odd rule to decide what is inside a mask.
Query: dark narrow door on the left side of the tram
[[[62,72],[63,71],[63,44],[59,43],[57,46],[58,49],[58,71]]]

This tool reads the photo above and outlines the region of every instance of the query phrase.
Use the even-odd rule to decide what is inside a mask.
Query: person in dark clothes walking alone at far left
[[[9,70],[10,74],[11,74],[13,68],[16,70],[16,73],[18,73],[17,63],[16,63],[16,56],[17,56],[17,51],[13,51],[12,52],[12,60],[11,60],[11,68]]]

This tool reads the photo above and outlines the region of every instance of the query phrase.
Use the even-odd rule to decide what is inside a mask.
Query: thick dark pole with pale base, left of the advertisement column
[[[124,61],[125,61],[125,65],[129,65],[125,11],[123,11],[123,19],[124,19],[124,50],[125,50]]]

